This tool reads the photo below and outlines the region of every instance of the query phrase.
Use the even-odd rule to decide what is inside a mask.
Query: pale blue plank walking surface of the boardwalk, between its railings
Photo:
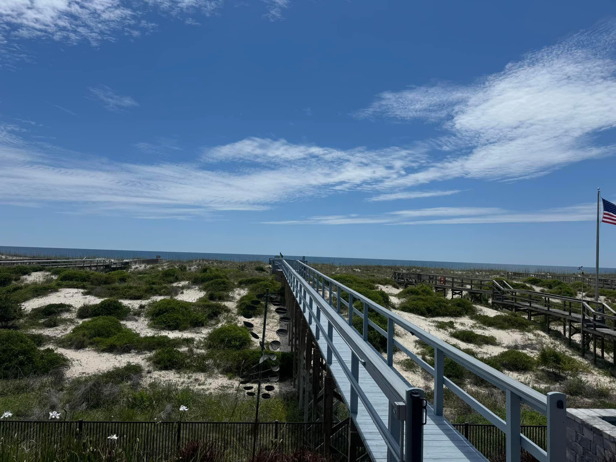
[[[325,300],[323,300],[323,304],[326,304]],[[304,312],[304,318],[306,319],[306,322],[308,322],[308,310]],[[323,327],[327,329],[329,327],[329,321],[325,317],[322,317],[321,319]],[[312,333],[316,335],[317,328],[314,322],[310,324],[310,330],[312,330]],[[351,349],[335,329],[333,330],[332,340],[336,350],[341,354],[341,357],[344,359],[347,367],[351,368]],[[323,336],[317,340],[317,343],[323,356],[325,357],[327,342]],[[383,367],[387,367],[385,361],[383,361]],[[342,367],[339,365],[335,355],[333,356],[330,370],[334,377],[334,381],[336,381],[338,391],[342,397],[344,397],[345,403],[348,407],[349,402],[351,401],[351,384],[342,370]],[[370,403],[375,408],[378,415],[384,422],[387,422],[389,415],[389,401],[368,372],[361,366],[359,368],[359,383],[362,390],[370,399]],[[387,445],[383,440],[383,436],[381,436],[378,431],[376,424],[370,418],[368,411],[363,406],[361,400],[359,400],[358,403],[357,414],[352,417],[371,459],[375,462],[386,462]],[[428,423],[424,426],[423,444],[424,460],[426,461],[487,461],[479,450],[469,443],[468,440],[460,434],[460,432],[456,431],[456,429],[446,418],[434,415],[432,407],[430,406],[428,407]]]

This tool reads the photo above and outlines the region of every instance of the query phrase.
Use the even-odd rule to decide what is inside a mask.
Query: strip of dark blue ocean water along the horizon
[[[161,258],[168,260],[226,260],[226,261],[261,261],[267,262],[277,254],[238,254],[238,253],[199,253],[199,252],[164,252],[164,251],[144,251],[144,250],[108,250],[108,249],[65,249],[53,247],[15,247],[0,246],[0,254],[18,255],[28,257],[56,257],[56,258],[83,258],[83,257],[105,257],[113,259],[129,258],[153,258],[160,255]],[[302,256],[285,255],[285,258],[300,259]],[[504,271],[522,272],[550,272],[550,273],[577,273],[576,266],[554,266],[554,265],[514,265],[506,263],[474,263],[474,262],[451,262],[451,261],[422,261],[422,260],[392,260],[376,258],[344,258],[344,257],[318,257],[306,255],[309,262],[326,263],[333,265],[384,265],[397,267],[431,267],[448,268],[458,270],[468,269],[492,269]],[[593,272],[588,268],[587,271]],[[600,273],[616,273],[615,268],[599,268]]]

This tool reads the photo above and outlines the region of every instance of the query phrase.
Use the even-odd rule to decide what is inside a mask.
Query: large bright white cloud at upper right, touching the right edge
[[[426,143],[447,152],[445,160],[394,178],[389,187],[537,177],[614,152],[593,135],[616,127],[615,45],[616,23],[603,23],[476,83],[383,92],[357,116],[424,120],[448,132]]]

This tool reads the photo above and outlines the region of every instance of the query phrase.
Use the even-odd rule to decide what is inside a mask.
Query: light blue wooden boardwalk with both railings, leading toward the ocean
[[[323,357],[328,357],[328,365],[338,392],[349,407],[355,425],[373,460],[384,462],[388,460],[389,455],[390,461],[415,461],[411,459],[409,449],[413,442],[411,408],[416,406],[416,400],[411,399],[411,395],[415,390],[411,389],[393,367],[394,346],[434,376],[434,404],[428,407],[427,423],[423,427],[415,426],[423,429],[424,460],[486,461],[485,457],[442,416],[445,386],[505,432],[508,462],[519,462],[522,448],[540,462],[564,460],[565,445],[559,441],[565,431],[564,394],[549,392],[543,395],[509,378],[301,261],[276,259],[274,268],[283,271]],[[341,291],[349,294],[349,302],[341,298]],[[338,301],[336,303],[338,312],[331,304],[333,298]],[[364,312],[375,310],[384,315],[388,322],[387,331],[354,309],[354,301],[363,302]],[[349,307],[349,319],[340,314],[342,305]],[[363,338],[352,328],[352,317],[355,315],[363,320]],[[386,360],[368,343],[368,326],[387,338]],[[418,339],[434,347],[434,367],[421,360],[394,338],[394,326],[414,334]],[[506,392],[506,420],[495,415],[444,376],[445,356]],[[547,416],[547,451],[521,434],[522,403]]]

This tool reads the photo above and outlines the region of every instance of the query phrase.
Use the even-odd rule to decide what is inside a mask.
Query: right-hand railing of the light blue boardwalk
[[[362,294],[357,293],[351,288],[336,282],[333,278],[318,272],[317,270],[309,267],[297,260],[283,261],[283,272],[290,280],[297,290],[304,291],[304,299],[306,300],[306,292],[310,294],[307,299],[307,303],[312,303],[317,298],[325,299],[326,291],[328,293],[330,303],[332,300],[332,294],[335,294],[336,307],[338,311],[338,317],[341,318],[342,306],[348,308],[348,318],[345,319],[348,323],[347,329],[351,329],[351,332],[356,338],[359,332],[352,327],[352,321],[354,316],[359,316],[363,320],[363,342],[364,345],[355,345],[352,349],[356,352],[365,352],[366,346],[369,346],[368,350],[371,352],[371,358],[374,354],[381,361],[381,366],[378,363],[371,363],[372,368],[376,368],[375,381],[384,390],[392,388],[390,390],[391,400],[400,399],[403,397],[403,389],[405,385],[399,385],[399,376],[397,371],[393,367],[394,362],[394,346],[404,352],[410,359],[418,363],[420,367],[428,371],[434,376],[434,414],[443,415],[443,395],[444,387],[447,386],[450,391],[458,395],[460,399],[468,403],[477,413],[484,416],[488,421],[496,426],[496,428],[505,432],[506,436],[506,455],[508,462],[518,462],[521,456],[522,448],[535,456],[540,462],[561,462],[565,460],[565,445],[562,444],[562,436],[565,433],[565,419],[566,419],[566,397],[559,392],[549,392],[548,394],[541,394],[538,391],[533,390],[529,386],[526,386],[518,381],[510,378],[509,376],[489,367],[480,360],[472,357],[460,351],[459,349],[451,346],[447,342],[440,340],[439,338],[429,334],[418,326],[408,322],[405,318],[391,312],[390,310],[376,304]],[[298,280],[299,276],[299,280]],[[305,280],[309,287],[306,288],[301,279]],[[345,301],[342,298],[342,292],[346,292],[349,296],[349,301]],[[321,294],[319,296],[319,294]],[[313,296],[315,295],[315,296]],[[360,302],[363,306],[363,312],[360,312],[354,307],[355,302]],[[312,306],[310,306],[312,309]],[[387,318],[387,331],[376,325],[369,319],[368,315],[370,310],[373,310]],[[330,322],[334,322],[334,325],[339,324],[338,320],[332,320],[330,310],[325,307],[318,306],[316,317],[320,319],[320,312],[326,314],[326,317]],[[344,318],[342,318],[344,319]],[[318,324],[318,323],[317,323]],[[381,355],[376,353],[376,350],[371,347],[368,342],[368,326],[376,330],[379,334],[387,339],[387,356],[384,359]],[[397,341],[394,337],[394,329],[398,326],[403,330],[415,335],[418,339],[423,340],[429,346],[434,347],[434,367],[422,360],[416,354],[411,352],[402,343]],[[336,327],[338,330],[338,327]],[[320,327],[322,330],[322,326]],[[351,335],[349,335],[351,336]],[[366,353],[363,353],[366,354]],[[488,381],[494,386],[498,387],[506,394],[506,419],[501,419],[498,415],[493,413],[487,407],[482,405],[479,401],[474,399],[470,394],[464,391],[461,387],[453,383],[450,379],[443,374],[444,357],[448,357],[454,362],[460,364],[467,370],[471,371],[480,378]],[[371,362],[374,360],[371,359]],[[383,367],[383,362],[387,367]],[[367,361],[368,363],[368,361]],[[372,372],[370,372],[372,375]],[[395,379],[392,379],[392,383],[388,384],[387,381],[393,375]],[[353,383],[353,381],[351,381]],[[363,398],[362,398],[363,402]],[[527,436],[522,434],[521,430],[521,405],[529,405],[534,410],[539,411],[543,415],[547,416],[548,429],[547,429],[547,444],[544,450],[539,445],[535,444]],[[379,426],[379,431],[383,434],[388,446],[395,447],[395,442],[390,442],[387,436],[386,427]]]

